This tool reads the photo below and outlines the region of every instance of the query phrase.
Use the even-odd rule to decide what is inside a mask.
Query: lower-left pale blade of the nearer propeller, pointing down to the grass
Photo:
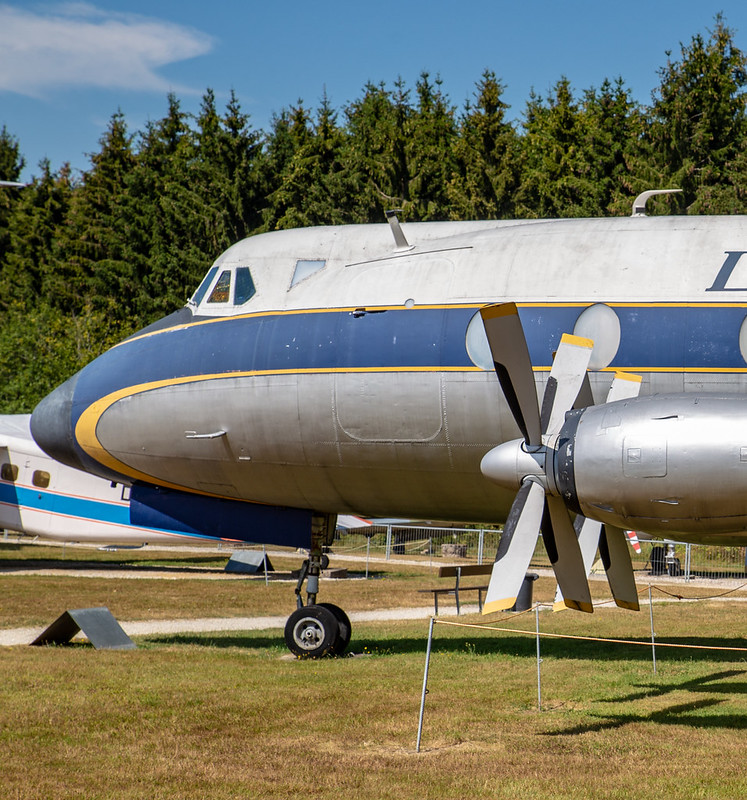
[[[526,481],[516,495],[503,528],[482,607],[483,614],[503,611],[516,603],[537,546],[544,507],[545,490],[535,481]]]

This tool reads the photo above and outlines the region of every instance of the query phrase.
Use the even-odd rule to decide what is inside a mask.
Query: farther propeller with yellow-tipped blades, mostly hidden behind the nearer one
[[[585,386],[588,387],[588,373],[584,383]],[[640,388],[640,375],[632,375],[628,372],[616,372],[610,390],[607,393],[606,402],[612,403],[616,400],[629,400],[633,397],[637,397]],[[583,401],[581,400],[582,395],[584,395]],[[591,402],[590,400],[590,387],[588,394],[584,394],[584,389],[582,389],[575,406],[577,408],[583,408],[584,406],[592,405],[593,400],[591,400]],[[597,552],[597,548],[599,548],[602,564],[607,573],[607,582],[609,583],[615,603],[620,608],[638,611],[638,591],[635,585],[633,563],[630,560],[630,551],[627,547],[627,539],[624,531],[609,525],[603,525],[601,522],[589,519],[581,514],[576,517],[573,527],[578,535],[578,544],[581,548],[581,556],[584,561],[584,569],[586,570],[587,576],[591,572],[594,556]],[[567,606],[563,601],[563,592],[560,586],[558,586],[555,591],[553,610],[560,611],[564,608],[567,608]]]

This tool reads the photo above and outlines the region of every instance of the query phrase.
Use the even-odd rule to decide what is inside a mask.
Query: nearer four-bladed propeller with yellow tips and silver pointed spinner
[[[480,469],[494,482],[518,488],[496,553],[483,613],[511,608],[532,558],[540,528],[561,587],[563,602],[591,613],[578,537],[554,481],[550,460],[557,435],[584,385],[594,343],[563,334],[540,411],[532,362],[515,303],[480,310],[495,372],[523,441],[505,442],[487,453]]]

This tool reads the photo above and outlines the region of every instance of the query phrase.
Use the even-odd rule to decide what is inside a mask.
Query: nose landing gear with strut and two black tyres
[[[311,549],[303,562],[296,584],[296,610],[285,623],[285,643],[299,658],[340,656],[350,643],[350,620],[347,614],[331,603],[317,603],[319,573],[329,565],[324,545],[332,544],[337,517],[315,514],[311,523]],[[306,582],[306,604],[301,597]]]

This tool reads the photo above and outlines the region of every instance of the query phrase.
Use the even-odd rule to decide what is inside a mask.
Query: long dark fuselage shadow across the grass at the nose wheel
[[[267,631],[235,632],[235,633],[184,633],[167,636],[147,636],[142,641],[152,645],[197,645],[200,647],[243,647],[250,649],[268,646],[284,647],[283,632]],[[541,641],[541,657],[556,659],[579,659],[590,661],[651,661],[651,644],[645,639],[631,639],[641,645],[605,644],[603,642],[585,642],[563,639],[543,639]],[[744,648],[744,639],[724,639],[717,637],[688,637],[679,639],[677,644],[691,644],[699,647]],[[661,643],[657,643],[660,645]],[[384,634],[381,636],[356,637],[348,648],[349,653],[369,653],[378,656],[394,656],[407,654],[423,654],[427,646],[427,635],[420,638]],[[501,657],[536,658],[536,641],[533,636],[471,636],[469,638],[449,637],[433,638],[433,655],[464,655],[465,657]],[[690,648],[665,648],[657,646],[658,662],[676,663],[693,662],[729,662],[745,658],[743,651],[738,650],[696,650]]]

